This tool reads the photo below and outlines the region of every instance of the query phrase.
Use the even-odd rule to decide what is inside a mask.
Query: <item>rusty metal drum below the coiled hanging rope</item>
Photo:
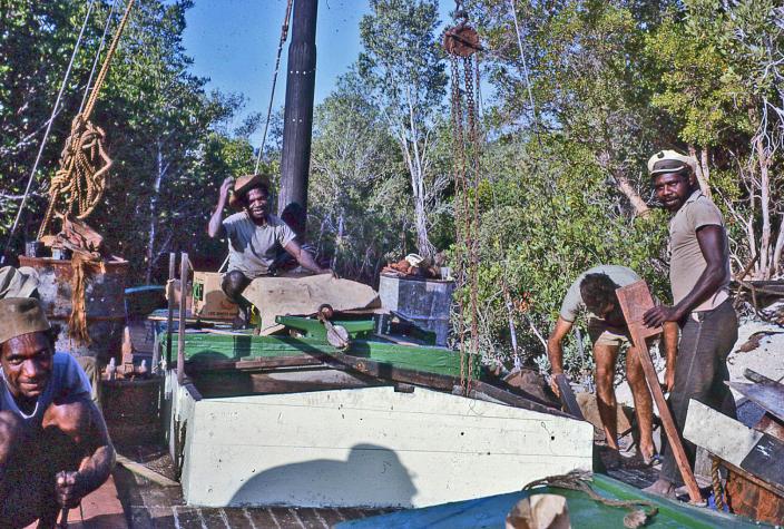
[[[43,310],[52,325],[60,327],[56,350],[75,356],[95,356],[101,364],[111,356],[120,361],[122,329],[125,327],[125,277],[128,262],[106,262],[105,272],[87,274],[85,304],[89,345],[77,344],[68,336],[68,319],[71,315],[71,280],[74,268],[70,261],[43,257],[19,257],[21,266],[38,272],[38,292]]]

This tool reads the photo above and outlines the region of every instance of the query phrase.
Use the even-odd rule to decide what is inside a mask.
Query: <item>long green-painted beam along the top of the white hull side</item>
[[[160,340],[163,346],[166,347],[167,336],[165,333]],[[453,378],[459,378],[461,373],[460,354],[443,347],[354,340],[347,350],[341,352],[398,369]],[[262,357],[293,356],[302,353],[335,355],[340,352],[325,341],[311,337],[206,333],[185,335],[185,360],[187,362],[236,362]],[[480,372],[479,359],[474,359],[473,371]]]

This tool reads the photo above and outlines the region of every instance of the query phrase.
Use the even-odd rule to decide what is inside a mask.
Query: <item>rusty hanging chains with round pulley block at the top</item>
[[[479,178],[480,141],[477,119],[474,82],[478,77],[474,55],[480,50],[479,36],[468,26],[465,12],[458,1],[454,17],[462,19],[444,33],[444,48],[451,65],[451,115],[454,148],[454,187],[458,196],[458,215],[463,219],[458,226],[455,261],[460,286],[469,288],[470,342],[465,346],[465,329],[460,335],[460,384],[463,393],[471,392],[474,362],[479,359]],[[463,108],[462,92],[465,94]],[[460,321],[464,326],[465,303],[458,298]]]

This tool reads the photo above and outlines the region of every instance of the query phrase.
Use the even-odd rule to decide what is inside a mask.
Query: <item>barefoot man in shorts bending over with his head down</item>
[[[559,393],[555,382],[557,374],[564,373],[561,342],[571,330],[577,315],[588,311],[588,334],[594,342],[596,364],[596,392],[599,417],[604,425],[607,445],[618,450],[617,402],[614,390],[615,365],[621,346],[629,346],[629,331],[621,313],[616,288],[640,281],[640,277],[626,266],[601,265],[590,268],[571,284],[564,297],[556,327],[547,341],[548,356],[552,365],[552,391]],[[673,386],[675,354],[678,331],[675,325],[666,325],[664,349],[667,354],[666,384]],[[626,376],[635,402],[635,413],[639,424],[639,452],[645,462],[650,462],[656,448],[653,437],[653,402],[645,382],[643,365],[630,347],[626,354]]]

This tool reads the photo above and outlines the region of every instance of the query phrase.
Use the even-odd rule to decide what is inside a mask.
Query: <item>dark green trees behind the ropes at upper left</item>
[[[72,51],[85,14],[75,8],[85,6],[79,2],[10,3],[10,10],[0,14],[0,56],[4,68],[14,72],[0,82],[0,127],[7,149],[0,158],[0,195],[17,194],[26,184],[40,133],[30,141],[14,143],[48,118],[65,71],[62,62]],[[46,182],[57,169],[65,135],[79,108],[109,4],[97,2],[90,18],[33,187],[36,195],[16,237],[17,248],[35,236],[40,223]],[[188,74],[190,58],[182,35],[190,4],[136,2],[92,116],[107,133],[115,164],[104,204],[88,223],[105,236],[111,252],[131,262],[129,282],[163,278],[166,259],[161,257],[175,249],[189,251],[198,264],[200,256],[212,256],[203,264],[216,267],[225,249],[206,237],[205,226],[217,186],[226,176],[253,168],[247,139],[232,137],[223,126],[241,108],[242,98],[208,94],[206,80]],[[11,23],[16,30],[6,31]],[[16,208],[3,207],[7,213]],[[4,234],[10,223],[8,217],[0,222]]]

